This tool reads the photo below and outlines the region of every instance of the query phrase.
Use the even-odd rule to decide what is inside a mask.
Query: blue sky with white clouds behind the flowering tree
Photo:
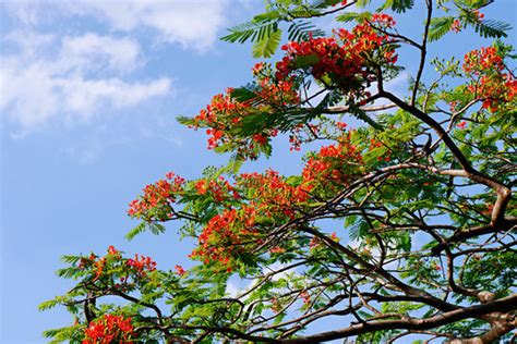
[[[124,241],[137,224],[125,211],[168,171],[193,179],[225,163],[175,118],[250,79],[250,47],[218,37],[262,8],[260,0],[0,1],[0,342],[41,343],[43,330],[71,321],[60,309],[37,311],[72,285],[55,274],[63,254],[115,245],[163,269],[189,265],[192,243],[179,242],[175,225]],[[515,10],[502,0],[486,14],[515,22]],[[413,25],[418,15],[404,28]],[[473,39],[447,38],[434,53],[466,52]],[[393,87],[402,93],[400,84]],[[245,169],[293,173],[298,159],[281,147]]]

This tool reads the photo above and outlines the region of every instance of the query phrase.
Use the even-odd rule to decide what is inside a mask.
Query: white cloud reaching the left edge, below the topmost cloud
[[[0,58],[0,110],[24,131],[52,119],[89,120],[100,107],[134,107],[171,88],[165,77],[121,78],[140,63],[140,46],[128,38],[16,32],[4,41],[15,52]]]

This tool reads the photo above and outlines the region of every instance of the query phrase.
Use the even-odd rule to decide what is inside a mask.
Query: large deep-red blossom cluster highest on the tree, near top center
[[[387,35],[376,28],[387,29],[395,21],[387,14],[373,14],[371,21],[357,25],[351,32],[339,29],[334,37],[310,38],[289,42],[281,49],[287,53],[276,64],[276,77],[284,79],[302,70],[320,81],[329,78],[351,100],[368,97],[364,85],[375,81],[374,65],[394,64],[395,49]]]

